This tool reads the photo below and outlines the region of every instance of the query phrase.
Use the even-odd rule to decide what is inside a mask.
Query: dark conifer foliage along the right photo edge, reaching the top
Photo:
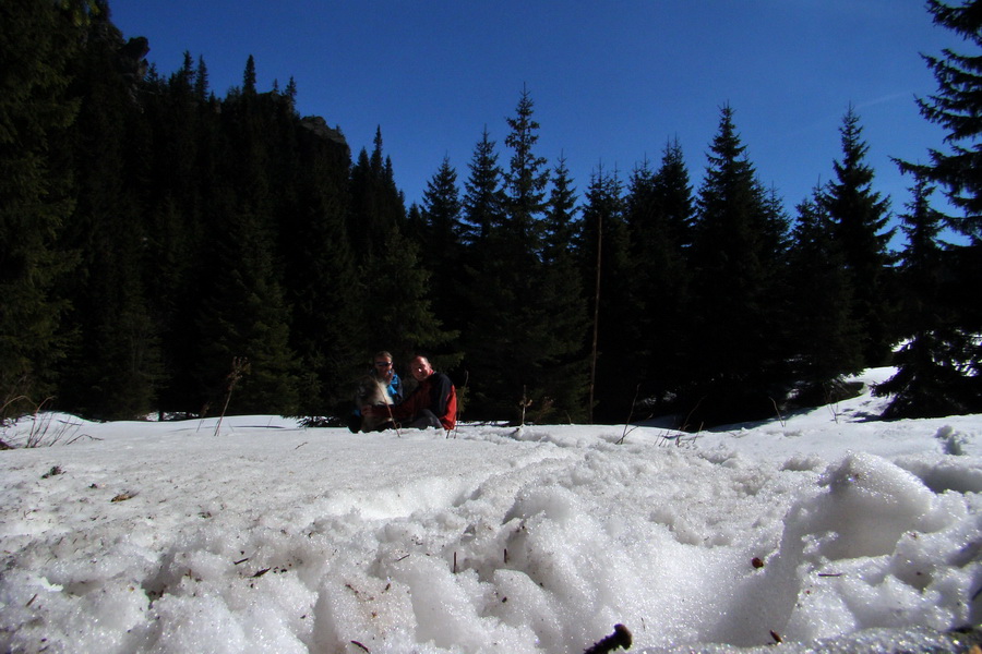
[[[899,358],[900,371],[884,387],[898,390],[890,407],[897,415],[935,414],[946,407],[959,407],[959,413],[982,411],[982,305],[971,295],[982,287],[982,2],[966,0],[950,5],[929,0],[927,10],[937,25],[961,36],[971,51],[946,49],[942,56],[924,56],[938,89],[918,105],[924,118],[945,130],[946,148],[930,150],[930,164],[898,165],[917,175],[915,189],[931,183],[944,190],[961,215],[931,216],[968,237],[968,244],[954,245],[939,255],[935,278],[918,276],[921,296],[917,306],[927,305],[937,313],[915,314],[921,320],[912,329],[909,326],[913,340]],[[912,209],[911,217],[917,215]],[[905,251],[914,269],[926,266],[914,266],[920,261],[914,249],[925,250],[927,231],[917,225],[925,220],[933,223],[933,219],[919,218]]]

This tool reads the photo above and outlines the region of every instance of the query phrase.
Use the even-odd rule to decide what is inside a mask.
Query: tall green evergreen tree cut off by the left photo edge
[[[59,143],[75,120],[68,64],[80,32],[53,2],[0,7],[0,419],[55,392],[68,308],[59,237],[73,209]],[[25,396],[28,402],[13,402]],[[33,404],[33,405],[28,405]]]

